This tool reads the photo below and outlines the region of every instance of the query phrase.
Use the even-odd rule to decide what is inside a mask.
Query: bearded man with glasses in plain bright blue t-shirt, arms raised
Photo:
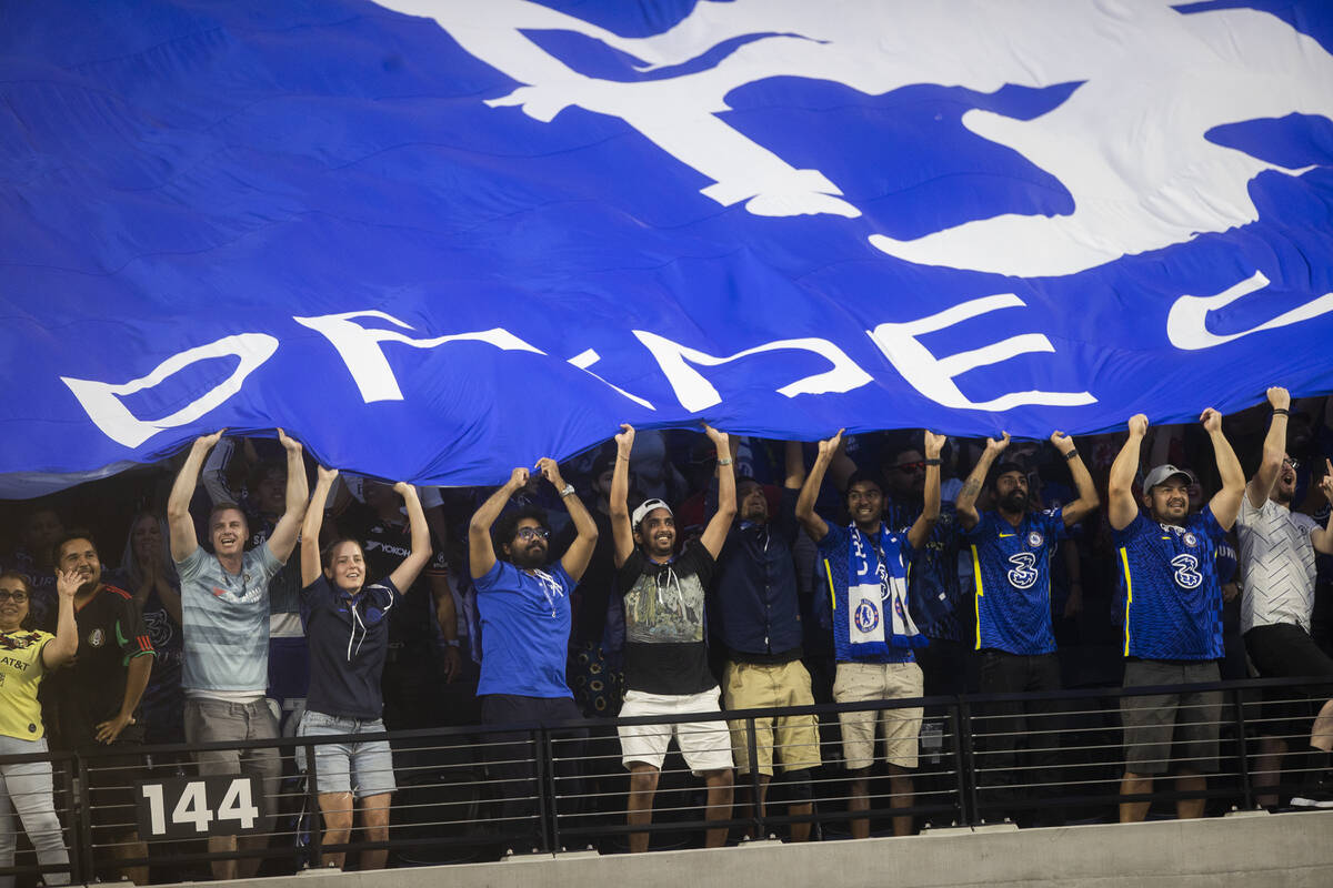
[[[551,529],[544,510],[523,506],[500,515],[509,498],[528,486],[527,469],[515,469],[509,481],[481,503],[468,526],[468,567],[481,618],[477,696],[481,698],[483,724],[536,722],[552,726],[583,718],[565,683],[569,595],[588,568],[597,545],[597,525],[553,459],[543,458],[537,467],[560,494],[579,529],[564,558],[547,567]],[[496,525],[493,543],[492,525]],[[564,740],[559,755],[571,767],[581,758],[584,734],[576,728],[555,735]],[[493,744],[491,771],[505,797],[507,819],[532,816],[531,799],[537,793],[531,785],[536,775],[528,740],[527,732],[487,738]],[[563,788],[569,789],[569,784]]]

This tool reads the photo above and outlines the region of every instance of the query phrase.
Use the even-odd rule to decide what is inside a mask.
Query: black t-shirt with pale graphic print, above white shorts
[[[617,571],[625,590],[625,687],[647,694],[698,694],[717,684],[708,668],[704,590],[713,556],[698,541],[666,564],[635,553]]]

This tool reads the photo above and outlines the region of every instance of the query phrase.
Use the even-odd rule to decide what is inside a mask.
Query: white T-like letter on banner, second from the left
[[[347,369],[352,373],[356,387],[361,390],[361,399],[367,403],[376,401],[403,401],[403,390],[393,375],[389,359],[384,357],[384,350],[380,347],[381,342],[401,342],[415,349],[433,349],[447,342],[488,342],[505,351],[545,354],[541,349],[528,345],[515,334],[500,328],[415,339],[397,330],[364,328],[360,324],[355,324],[355,318],[380,318],[404,330],[415,329],[392,314],[376,310],[344,312],[341,314],[323,314],[308,318],[293,317],[292,320],[323,333],[333,343],[343,362],[347,363]]]

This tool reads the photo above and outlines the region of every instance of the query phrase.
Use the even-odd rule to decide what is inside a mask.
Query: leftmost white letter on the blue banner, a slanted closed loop
[[[173,354],[153,367],[148,375],[120,385],[73,377],[60,377],[60,381],[69,386],[75,398],[88,411],[88,417],[108,438],[125,447],[137,447],[159,431],[189,425],[221,406],[241,390],[245,377],[273,357],[275,351],[277,351],[276,338],[265,333],[241,333]],[[240,358],[240,363],[236,365],[231,375],[168,417],[140,419],[120,401],[124,395],[160,385],[192,363],[227,357]]]

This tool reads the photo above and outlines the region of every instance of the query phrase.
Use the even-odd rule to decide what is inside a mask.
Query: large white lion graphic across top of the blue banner
[[[1153,0],[701,0],[664,33],[625,39],[527,0],[377,0],[435,19],[469,53],[527,84],[495,107],[541,121],[579,107],[619,117],[713,181],[722,205],[758,216],[861,210],[817,169],[796,169],[726,125],[726,96],[769,77],[884,95],[913,84],[994,92],[1078,83],[1034,120],[970,111],[964,125],[1058,178],[1068,216],[1001,214],[917,240],[870,234],[912,262],[1018,276],[1073,274],[1122,256],[1253,222],[1249,182],[1300,174],[1214,145],[1218,125],[1292,113],[1333,117],[1333,57],[1253,9],[1182,13]],[[572,71],[523,32],[571,31],[643,60],[645,71],[740,45],[714,65],[641,83]],[[746,39],[748,41],[738,40]]]

